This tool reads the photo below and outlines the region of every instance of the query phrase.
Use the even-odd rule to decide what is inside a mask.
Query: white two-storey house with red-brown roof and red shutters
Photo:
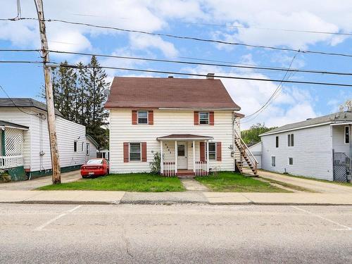
[[[115,77],[106,101],[110,113],[110,170],[149,172],[161,153],[161,174],[256,173],[239,137],[240,107],[220,80]],[[242,157],[242,158],[241,158]]]

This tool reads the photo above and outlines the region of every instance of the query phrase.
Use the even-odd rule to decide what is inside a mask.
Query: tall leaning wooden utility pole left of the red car
[[[46,111],[48,113],[51,166],[53,169],[52,182],[53,184],[59,184],[61,183],[60,160],[58,158],[58,141],[56,137],[54,92],[53,92],[53,84],[51,83],[51,68],[48,65],[46,65],[46,63],[49,62],[49,53],[48,53],[49,48],[48,48],[48,41],[46,39],[43,1],[34,0],[34,4],[35,4],[35,7],[37,8],[40,41],[42,43]]]

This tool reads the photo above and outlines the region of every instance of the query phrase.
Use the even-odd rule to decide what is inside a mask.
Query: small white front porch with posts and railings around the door
[[[170,134],[158,137],[161,153],[161,175],[194,177],[209,174],[209,140],[213,137],[195,134]]]

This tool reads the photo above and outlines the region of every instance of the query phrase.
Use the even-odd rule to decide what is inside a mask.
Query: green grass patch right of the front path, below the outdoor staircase
[[[260,182],[234,172],[220,172],[218,176],[196,177],[196,180],[206,185],[211,191],[291,192],[274,187],[269,182]]]

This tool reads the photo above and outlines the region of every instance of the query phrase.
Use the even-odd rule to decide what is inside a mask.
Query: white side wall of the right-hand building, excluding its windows
[[[343,130],[341,131],[342,135]],[[262,168],[280,173],[288,172],[292,175],[332,180],[330,126],[322,125],[295,130],[294,147],[289,146],[289,142],[291,142],[288,140],[291,139],[289,134],[293,133],[281,132],[261,137]],[[279,136],[279,148],[275,146],[277,136]],[[343,143],[342,140],[341,143]],[[275,156],[275,167],[272,167],[272,156]],[[289,165],[289,158],[293,158],[293,165]]]

